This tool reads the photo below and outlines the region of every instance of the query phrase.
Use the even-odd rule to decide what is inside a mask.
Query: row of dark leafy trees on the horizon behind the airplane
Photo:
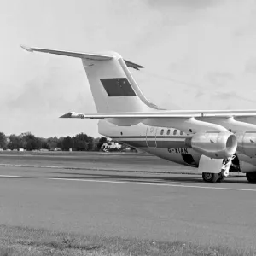
[[[20,135],[11,134],[6,136],[0,132],[0,148],[19,150],[24,148],[26,151],[31,150],[63,150],[67,151],[72,148],[74,151],[98,151],[103,143],[107,143],[107,137],[90,137],[84,133],[79,133],[73,137],[36,137],[31,132],[21,133]]]

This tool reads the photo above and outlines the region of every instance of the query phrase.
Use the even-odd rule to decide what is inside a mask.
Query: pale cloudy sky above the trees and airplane
[[[113,50],[149,101],[166,109],[256,109],[254,0],[0,0],[0,113],[5,134],[98,137],[81,61],[32,47]]]

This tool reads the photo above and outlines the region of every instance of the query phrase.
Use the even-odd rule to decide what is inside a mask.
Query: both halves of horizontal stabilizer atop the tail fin
[[[79,53],[79,52],[63,51],[63,50],[56,50],[56,49],[33,48],[33,47],[28,47],[26,45],[20,45],[20,46],[21,48],[26,49],[26,51],[29,51],[29,52],[38,51],[38,52],[49,53],[53,55],[63,55],[68,57],[95,60],[95,61],[108,61],[114,58],[114,55],[111,55],[111,54],[102,55],[102,54],[92,54],[92,53]],[[125,61],[125,64],[127,65],[127,67],[132,67],[137,70],[139,70],[139,68],[143,68],[143,66],[137,65],[136,63],[133,63],[131,61]]]

